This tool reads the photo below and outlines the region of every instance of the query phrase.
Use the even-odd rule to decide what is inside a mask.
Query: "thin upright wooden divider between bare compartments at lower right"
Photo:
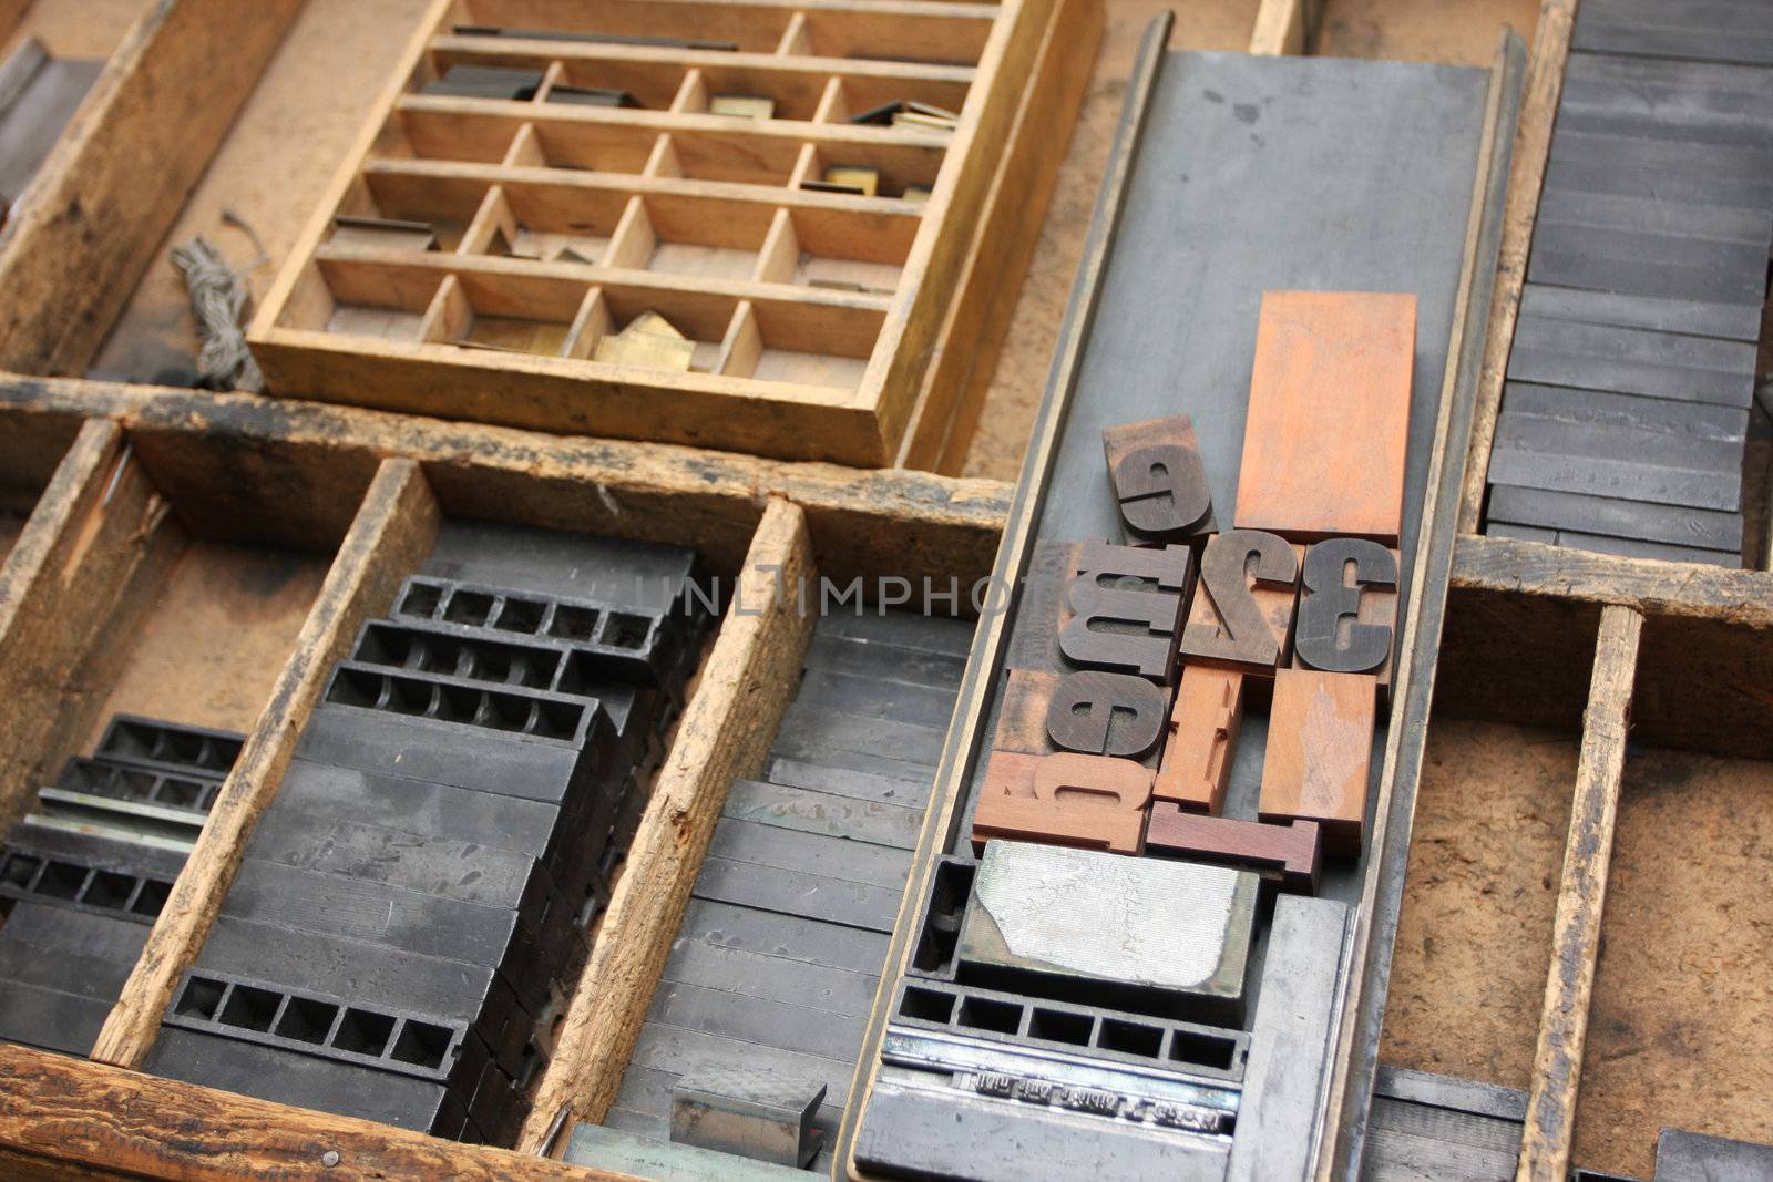
[[[1644,617],[1631,608],[1601,611],[1516,1182],[1564,1182],[1569,1173],[1642,631]]]

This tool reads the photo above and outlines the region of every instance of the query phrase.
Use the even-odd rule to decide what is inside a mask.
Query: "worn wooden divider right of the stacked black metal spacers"
[[[817,578],[805,514],[771,500],[535,1086],[521,1152],[551,1148],[562,1109],[601,1124],[615,1099],[727,789],[757,776],[798,684],[812,615],[775,590]]]

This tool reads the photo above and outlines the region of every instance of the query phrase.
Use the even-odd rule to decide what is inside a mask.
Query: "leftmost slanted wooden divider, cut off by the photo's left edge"
[[[170,558],[167,502],[117,424],[89,422],[0,572],[0,826],[59,762],[96,640]]]

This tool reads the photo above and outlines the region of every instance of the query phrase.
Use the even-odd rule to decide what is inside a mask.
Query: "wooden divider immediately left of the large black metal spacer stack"
[[[140,1067],[154,1046],[167,1001],[222,909],[252,826],[277,792],[326,673],[346,654],[358,626],[394,601],[401,579],[431,551],[440,519],[418,464],[383,461],[277,688],[149,932],[142,959],[99,1031],[94,1060]]]

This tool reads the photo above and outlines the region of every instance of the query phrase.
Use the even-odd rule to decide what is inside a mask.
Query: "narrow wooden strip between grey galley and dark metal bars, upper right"
[[[1459,493],[1459,533],[1477,533],[1484,514],[1489,447],[1496,438],[1496,416],[1502,413],[1502,381],[1509,372],[1509,351],[1514,347],[1514,321],[1521,310],[1521,285],[1527,282],[1527,252],[1534,241],[1534,222],[1539,218],[1539,190],[1546,179],[1551,124],[1557,121],[1557,101],[1564,92],[1564,64],[1569,58],[1569,30],[1574,19],[1576,0],[1543,0],[1539,23],[1534,27],[1521,117],[1514,128],[1502,250],[1489,296],[1484,365],[1479,370],[1477,404],[1472,411],[1472,443]]]

